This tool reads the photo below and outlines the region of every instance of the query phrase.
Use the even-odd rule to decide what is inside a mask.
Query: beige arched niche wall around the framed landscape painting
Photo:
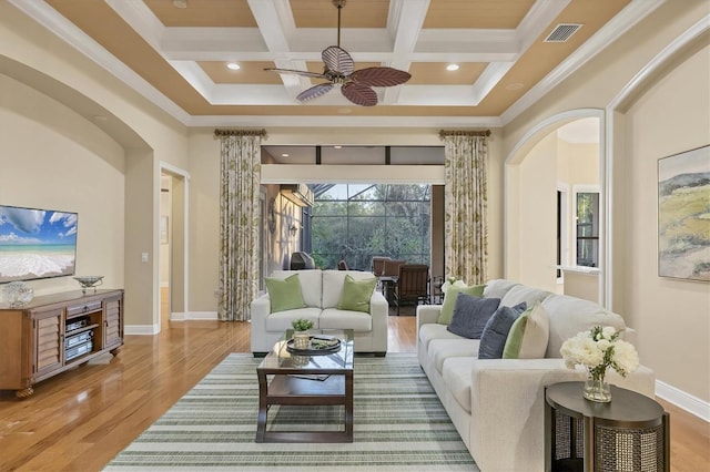
[[[707,44],[707,42],[706,42]],[[710,285],[658,276],[658,160],[710,144],[710,47],[682,58],[628,109],[626,312],[658,378],[710,399]]]

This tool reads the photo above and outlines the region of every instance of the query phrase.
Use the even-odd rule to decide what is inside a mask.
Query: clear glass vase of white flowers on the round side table
[[[610,326],[596,326],[566,340],[560,348],[565,365],[587,368],[585,398],[591,401],[611,401],[611,390],[606,381],[607,370],[616,370],[621,377],[639,367],[639,355],[633,345],[619,339],[619,331]]]

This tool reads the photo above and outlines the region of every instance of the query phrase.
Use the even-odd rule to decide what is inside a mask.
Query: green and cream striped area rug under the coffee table
[[[415,355],[355,358],[354,441],[345,444],[254,442],[258,362],[227,356],[105,470],[478,471]],[[274,430],[333,430],[344,408],[268,414]]]

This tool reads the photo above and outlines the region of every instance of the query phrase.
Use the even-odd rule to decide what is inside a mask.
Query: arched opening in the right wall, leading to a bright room
[[[602,300],[602,267],[579,264],[578,239],[604,250],[599,235],[602,205],[591,212],[595,240],[579,236],[576,193],[604,195],[604,112],[578,110],[531,130],[506,160],[506,277],[552,293]],[[588,212],[589,213],[589,212]],[[572,294],[572,291],[576,291]]]

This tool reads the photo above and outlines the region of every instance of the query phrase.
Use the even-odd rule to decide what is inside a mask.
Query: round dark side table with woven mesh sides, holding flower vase
[[[646,396],[611,386],[611,401],[582,397],[584,382],[545,388],[548,471],[670,471],[670,422]]]

